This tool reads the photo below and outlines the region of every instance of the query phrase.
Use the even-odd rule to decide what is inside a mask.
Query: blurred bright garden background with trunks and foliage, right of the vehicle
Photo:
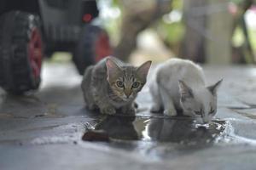
[[[252,0],[99,1],[114,52],[136,62],[171,57],[207,64],[253,64],[256,2]]]

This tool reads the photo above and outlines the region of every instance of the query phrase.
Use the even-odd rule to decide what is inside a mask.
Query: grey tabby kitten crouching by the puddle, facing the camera
[[[84,72],[81,88],[90,110],[113,115],[135,114],[134,100],[147,81],[151,61],[134,67],[113,57],[102,59]]]

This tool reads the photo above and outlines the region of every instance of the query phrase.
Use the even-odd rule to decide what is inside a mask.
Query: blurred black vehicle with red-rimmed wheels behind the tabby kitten
[[[94,0],[1,0],[0,86],[12,94],[39,87],[42,58],[73,53],[80,74],[111,54],[108,34],[93,26]]]

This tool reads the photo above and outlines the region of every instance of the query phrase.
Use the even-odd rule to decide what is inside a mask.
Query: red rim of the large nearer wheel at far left
[[[38,28],[32,29],[30,41],[28,42],[28,55],[32,67],[32,73],[35,78],[40,77],[42,65],[42,39]]]

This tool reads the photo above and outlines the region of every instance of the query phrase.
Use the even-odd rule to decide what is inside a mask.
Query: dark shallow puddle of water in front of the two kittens
[[[226,122],[207,125],[189,119],[107,116],[95,127],[105,131],[112,140],[139,140],[176,144],[212,144],[224,132]]]

